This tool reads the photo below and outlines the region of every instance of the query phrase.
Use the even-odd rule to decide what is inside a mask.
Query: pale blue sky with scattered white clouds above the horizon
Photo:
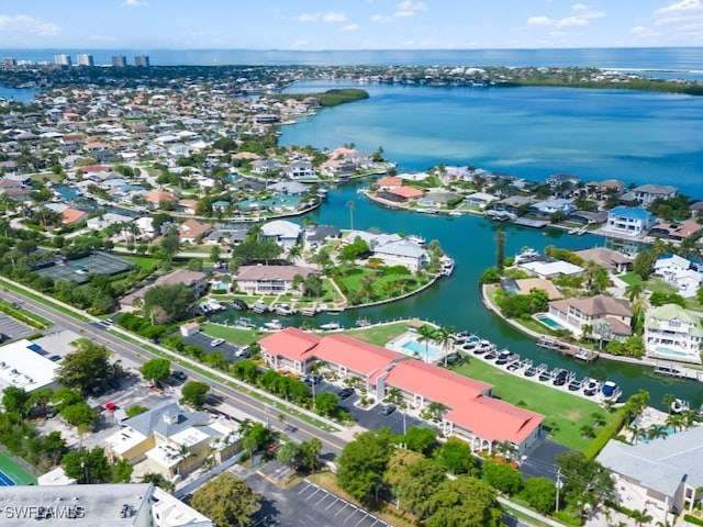
[[[3,48],[703,46],[703,0],[21,0]]]

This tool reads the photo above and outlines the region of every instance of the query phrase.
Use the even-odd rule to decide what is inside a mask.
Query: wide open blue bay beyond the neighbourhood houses
[[[346,85],[308,81],[289,92]],[[703,98],[571,88],[364,85],[370,98],[282,127],[281,145],[384,149],[399,170],[439,162],[544,180],[667,183],[703,199]]]

